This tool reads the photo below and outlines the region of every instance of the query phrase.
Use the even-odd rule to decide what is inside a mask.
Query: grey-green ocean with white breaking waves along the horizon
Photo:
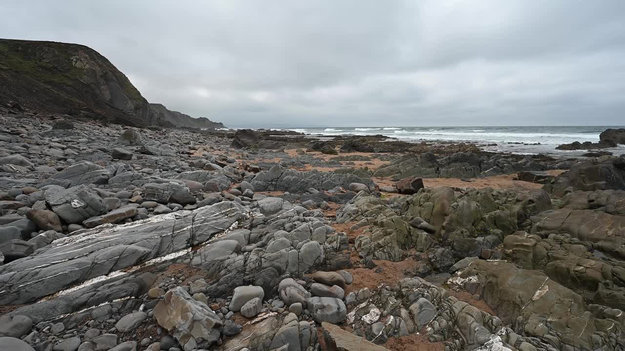
[[[476,144],[497,144],[482,149],[514,154],[548,154],[567,157],[580,156],[586,151],[556,150],[560,144],[574,141],[598,142],[599,134],[608,128],[623,126],[540,126],[540,127],[333,127],[333,128],[285,128],[314,136],[383,136],[407,142],[456,141]],[[519,144],[520,143],[520,144]],[[611,149],[615,155],[625,154],[625,145]]]

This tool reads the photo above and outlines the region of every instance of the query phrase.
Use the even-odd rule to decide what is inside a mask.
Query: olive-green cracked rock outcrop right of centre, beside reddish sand
[[[456,192],[438,187],[391,200],[359,195],[336,215],[338,223],[369,225],[354,242],[361,257],[399,261],[407,250],[426,252],[435,241],[448,244],[456,259],[479,256],[482,249],[496,247],[532,214],[546,209],[551,209],[551,200],[544,190],[517,196],[492,189]],[[419,223],[411,224],[416,218]],[[431,256],[434,267],[446,266],[440,254]]]

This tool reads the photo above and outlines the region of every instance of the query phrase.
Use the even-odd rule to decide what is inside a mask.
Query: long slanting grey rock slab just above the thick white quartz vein
[[[236,202],[181,210],[123,225],[100,225],[0,266],[0,305],[26,304],[74,284],[157,257],[184,252],[249,216]]]

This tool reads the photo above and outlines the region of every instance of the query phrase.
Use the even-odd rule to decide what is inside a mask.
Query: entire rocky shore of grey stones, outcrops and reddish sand
[[[0,350],[623,350],[625,156],[0,107]]]

